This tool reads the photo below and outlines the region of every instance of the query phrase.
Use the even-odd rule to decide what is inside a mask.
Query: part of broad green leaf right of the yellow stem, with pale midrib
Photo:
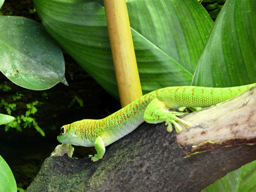
[[[142,89],[191,84],[213,24],[204,8],[177,0],[128,1],[127,6]]]

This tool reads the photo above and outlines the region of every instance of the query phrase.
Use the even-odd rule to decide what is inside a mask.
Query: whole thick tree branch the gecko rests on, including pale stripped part
[[[192,127],[177,138],[164,123],[143,123],[97,162],[49,157],[26,191],[201,191],[256,159],[255,92],[188,114]]]

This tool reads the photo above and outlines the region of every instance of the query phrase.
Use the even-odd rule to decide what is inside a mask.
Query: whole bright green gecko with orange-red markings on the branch
[[[180,107],[196,108],[215,105],[236,97],[256,83],[226,88],[180,86],[166,87],[143,95],[117,112],[99,120],[84,119],[64,125],[57,137],[61,143],[92,147],[97,154],[91,158],[98,161],[105,154],[105,147],[135,130],[144,121],[147,123],[166,122],[167,131],[172,131],[172,124],[177,133],[182,131],[183,124],[187,128],[190,123],[177,116],[184,112],[169,111]]]

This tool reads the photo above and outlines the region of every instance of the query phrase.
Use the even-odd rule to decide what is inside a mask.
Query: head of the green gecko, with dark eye
[[[57,137],[57,140],[60,143],[68,143],[68,144],[72,144],[72,145],[78,145],[75,141],[76,141],[76,130],[74,128],[70,128],[68,129],[68,125],[63,125],[60,128],[60,135]]]

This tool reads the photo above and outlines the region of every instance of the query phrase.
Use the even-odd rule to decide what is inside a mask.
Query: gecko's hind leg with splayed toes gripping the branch
[[[168,132],[172,131],[173,124],[176,132],[180,133],[182,131],[182,128],[178,123],[184,124],[187,128],[191,125],[189,122],[177,117],[184,114],[186,113],[169,111],[165,102],[160,101],[158,98],[154,98],[150,103],[148,103],[148,106],[144,112],[144,120],[147,123],[154,124],[165,121]]]

